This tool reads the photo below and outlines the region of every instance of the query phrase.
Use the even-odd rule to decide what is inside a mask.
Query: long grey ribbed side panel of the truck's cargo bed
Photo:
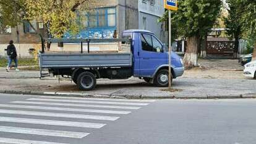
[[[41,53],[43,69],[77,67],[131,67],[131,53]]]

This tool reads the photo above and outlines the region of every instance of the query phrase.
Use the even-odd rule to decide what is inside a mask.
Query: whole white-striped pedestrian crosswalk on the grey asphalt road
[[[11,101],[0,104],[0,143],[72,143],[154,101],[58,96]]]

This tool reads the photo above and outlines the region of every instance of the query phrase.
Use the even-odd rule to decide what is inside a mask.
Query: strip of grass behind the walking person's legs
[[[19,66],[38,66],[38,63],[35,61],[35,59],[24,58],[24,59],[18,59],[18,65]],[[6,66],[7,66],[7,58],[0,58],[0,67],[6,67]]]

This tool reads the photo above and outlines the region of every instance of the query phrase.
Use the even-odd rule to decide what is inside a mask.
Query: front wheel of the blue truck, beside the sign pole
[[[154,85],[156,87],[168,87],[169,85],[169,70],[160,70],[154,78]],[[171,82],[173,82],[173,76],[171,76]]]

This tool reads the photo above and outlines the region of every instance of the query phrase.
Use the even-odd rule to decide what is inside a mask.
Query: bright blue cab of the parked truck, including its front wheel
[[[147,82],[167,86],[169,54],[164,44],[148,30],[125,30],[122,35],[132,38],[134,77],[143,77]],[[172,78],[180,77],[184,73],[182,59],[176,53],[171,53],[171,70]]]

